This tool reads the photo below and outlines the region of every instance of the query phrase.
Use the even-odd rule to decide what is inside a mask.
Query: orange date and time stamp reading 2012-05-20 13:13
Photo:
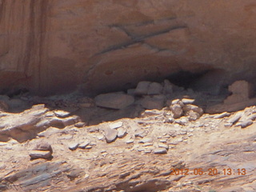
[[[217,168],[209,168],[209,169],[202,169],[202,168],[194,168],[194,169],[170,169],[170,175],[246,175],[245,168],[239,169],[231,169],[231,168],[224,168],[224,169],[217,169]]]

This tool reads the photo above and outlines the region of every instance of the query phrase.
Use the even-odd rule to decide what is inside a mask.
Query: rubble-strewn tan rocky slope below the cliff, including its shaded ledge
[[[0,190],[255,191],[254,98],[245,81],[230,91],[165,81],[95,98],[2,95]]]

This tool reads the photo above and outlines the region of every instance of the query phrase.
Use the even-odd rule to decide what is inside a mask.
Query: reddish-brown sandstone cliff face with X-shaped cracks
[[[180,71],[210,71],[194,86],[252,81],[255,16],[254,0],[0,0],[0,89],[91,94]]]

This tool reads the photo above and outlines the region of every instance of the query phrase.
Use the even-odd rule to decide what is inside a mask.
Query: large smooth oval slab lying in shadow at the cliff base
[[[96,106],[122,110],[134,103],[134,97],[122,93],[99,94],[95,98]]]

